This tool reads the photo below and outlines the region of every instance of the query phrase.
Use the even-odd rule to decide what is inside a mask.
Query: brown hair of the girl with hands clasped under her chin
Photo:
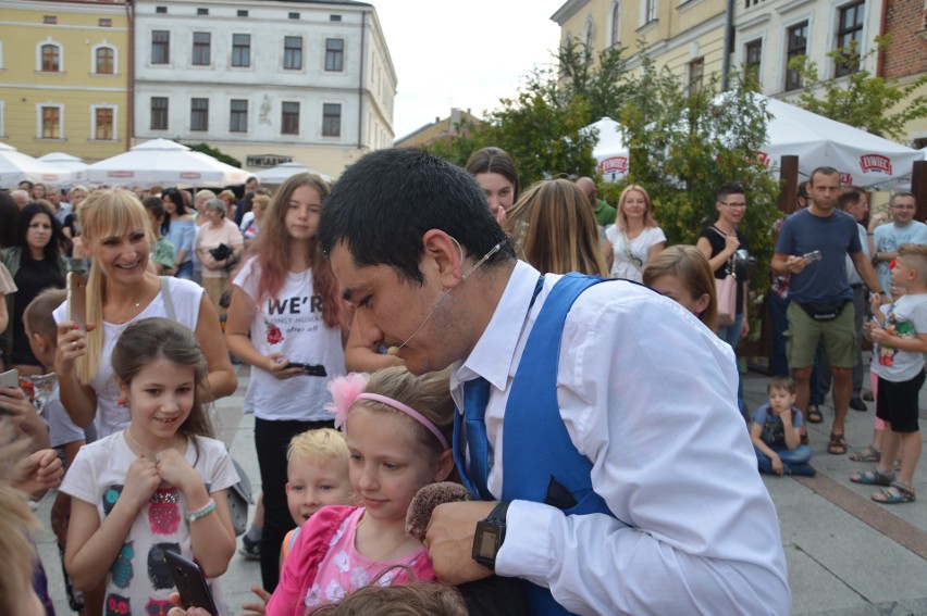
[[[200,401],[201,394],[209,387],[206,379],[209,368],[206,356],[188,327],[161,316],[131,323],[113,348],[113,373],[128,387],[145,366],[159,357],[194,369],[193,408],[177,431],[186,437],[211,437],[212,424]],[[196,444],[196,440],[191,440]]]

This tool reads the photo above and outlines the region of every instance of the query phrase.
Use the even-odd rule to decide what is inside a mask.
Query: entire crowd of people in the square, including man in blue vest
[[[807,423],[828,389],[827,452],[848,453],[864,339],[876,414],[850,457],[875,466],[851,480],[915,500],[927,225],[911,193],[866,227],[869,196],[835,169],[800,186],[775,228],[774,376],[752,412],[741,185],[718,187],[694,246],[670,247],[645,187],[614,208],[590,177],[521,187],[498,148],[462,168],[384,150],[331,187],[298,174],[242,194],[0,192],[0,361],[22,379],[0,389],[0,440],[30,443],[0,443],[0,499],[60,483],[50,521],[81,613],[180,605],[165,552],[227,613],[212,582],[236,551],[240,477],[209,405],[236,363],[262,489],[238,548],[260,561],[251,613],[787,614],[756,470],[815,474]],[[447,482],[467,498],[421,513]],[[50,614],[42,567],[59,565],[28,548],[28,512],[4,508],[26,543],[9,540],[25,556],[0,577],[34,580],[29,613]]]

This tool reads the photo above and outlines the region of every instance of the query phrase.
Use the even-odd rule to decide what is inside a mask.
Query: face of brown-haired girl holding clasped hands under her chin
[[[119,387],[128,401],[133,427],[140,429],[133,430],[133,435],[166,441],[173,439],[190,414],[196,372],[193,366],[158,357],[146,364],[128,386],[120,381]]]

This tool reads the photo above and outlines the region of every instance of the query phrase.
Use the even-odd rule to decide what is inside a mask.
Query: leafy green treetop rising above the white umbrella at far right
[[[903,141],[906,139],[905,125],[913,120],[927,117],[927,96],[915,96],[916,90],[927,84],[927,75],[899,86],[897,81],[861,70],[865,61],[888,46],[889,38],[877,37],[875,43],[863,55],[860,54],[856,41],[829,52],[828,58],[838,68],[836,73],[845,75],[840,77],[824,79],[816,62],[805,55],[792,59],[789,67],[798,71],[804,83],[804,91],[799,96],[798,104],[873,135]],[[892,112],[893,109],[898,111]]]

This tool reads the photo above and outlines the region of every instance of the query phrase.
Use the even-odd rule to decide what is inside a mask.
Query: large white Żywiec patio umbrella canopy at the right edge
[[[923,160],[922,152],[894,141],[780,100],[754,97],[765,100],[772,115],[766,128],[769,146],[762,155],[777,164],[783,155],[798,155],[799,173],[805,177],[819,166],[831,166],[843,185],[888,185],[910,176],[914,162]]]

